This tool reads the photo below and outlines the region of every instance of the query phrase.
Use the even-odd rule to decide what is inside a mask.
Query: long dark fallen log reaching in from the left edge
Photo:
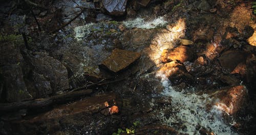
[[[1,114],[7,111],[14,111],[19,109],[31,109],[31,108],[41,108],[45,106],[50,106],[53,104],[67,103],[75,98],[90,95],[92,89],[85,89],[82,91],[75,91],[72,93],[59,94],[45,99],[35,99],[23,102],[12,102],[12,103],[0,103]]]

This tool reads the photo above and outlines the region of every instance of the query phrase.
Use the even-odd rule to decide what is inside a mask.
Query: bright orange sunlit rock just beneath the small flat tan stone
[[[179,46],[174,49],[165,49],[161,54],[162,62],[179,60],[181,62],[193,60],[193,51],[186,46]]]

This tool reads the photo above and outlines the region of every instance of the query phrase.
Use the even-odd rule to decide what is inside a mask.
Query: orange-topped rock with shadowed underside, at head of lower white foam
[[[165,63],[158,71],[159,75],[167,77],[173,85],[180,84],[182,82],[192,83],[193,77],[186,71],[185,66],[174,60],[169,63]]]

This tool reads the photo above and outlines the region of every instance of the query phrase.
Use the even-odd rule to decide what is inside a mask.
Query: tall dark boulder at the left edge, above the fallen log
[[[11,42],[0,46],[0,72],[2,72],[4,87],[1,97],[8,102],[17,102],[31,99],[24,81],[22,66],[24,58],[19,48]],[[1,94],[1,93],[0,93]],[[4,101],[4,99],[1,99]]]

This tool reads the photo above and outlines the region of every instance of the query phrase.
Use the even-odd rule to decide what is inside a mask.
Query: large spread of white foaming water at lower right
[[[178,92],[170,85],[164,75],[157,74],[157,77],[162,77],[162,85],[164,86],[161,96],[172,97],[172,105],[160,110],[159,119],[164,124],[174,126],[176,123],[181,123],[183,128],[177,130],[188,134],[199,134],[198,125],[215,134],[237,134],[231,130],[231,125],[224,122],[222,111],[216,107],[212,107],[209,111],[206,110],[206,105],[211,102],[209,95],[197,95],[187,93],[184,90]],[[164,113],[166,109],[172,109],[174,114],[166,117]]]

